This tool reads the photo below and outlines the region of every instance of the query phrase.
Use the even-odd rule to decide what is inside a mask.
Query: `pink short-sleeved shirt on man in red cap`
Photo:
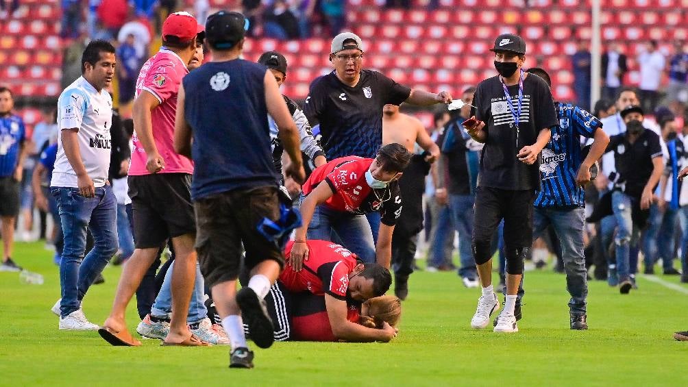
[[[176,153],[173,147],[177,93],[186,74],[189,74],[189,69],[186,69],[182,58],[167,49],[160,49],[143,65],[136,80],[136,96],[145,90],[160,101],[160,105],[151,111],[153,139],[165,162],[160,173],[193,173],[191,160]],[[148,155],[138,140],[136,128],[134,130],[129,175],[150,175],[146,169]]]

